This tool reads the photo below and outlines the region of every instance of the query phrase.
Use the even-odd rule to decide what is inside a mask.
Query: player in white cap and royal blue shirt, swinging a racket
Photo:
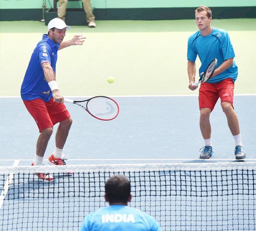
[[[70,29],[62,19],[54,18],[48,24],[48,34],[44,34],[32,53],[21,85],[21,98],[36,121],[39,138],[36,156],[32,165],[43,165],[47,143],[53,132],[53,125],[60,123],[55,136],[55,150],[48,158],[51,165],[65,165],[63,147],[70,130],[72,119],[60,94],[55,73],[58,50],[71,45],[82,45],[85,37],[74,36],[63,42],[66,29]],[[67,173],[70,174],[70,173]],[[53,181],[49,173],[37,173],[42,181]]]

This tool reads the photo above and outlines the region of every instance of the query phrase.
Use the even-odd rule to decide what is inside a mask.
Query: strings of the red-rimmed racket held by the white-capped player
[[[87,111],[96,118],[110,120],[118,114],[118,106],[112,99],[96,97],[87,102]]]

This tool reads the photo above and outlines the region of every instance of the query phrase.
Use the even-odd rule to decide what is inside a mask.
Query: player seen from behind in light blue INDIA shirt
[[[104,197],[110,206],[87,215],[80,231],[161,231],[154,218],[127,206],[131,184],[125,176],[110,177],[105,183]]]

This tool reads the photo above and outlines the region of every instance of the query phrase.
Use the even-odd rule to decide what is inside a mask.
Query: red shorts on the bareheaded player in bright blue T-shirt
[[[234,82],[232,79],[224,79],[217,83],[201,83],[199,89],[199,108],[214,109],[217,100],[220,102],[230,102],[233,107]]]

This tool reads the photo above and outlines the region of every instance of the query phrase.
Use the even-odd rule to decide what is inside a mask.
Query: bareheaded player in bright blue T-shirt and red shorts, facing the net
[[[195,11],[196,24],[199,31],[188,39],[188,77],[190,90],[195,90],[196,57],[201,61],[200,75],[208,64],[217,58],[218,64],[212,78],[201,83],[199,89],[200,129],[205,146],[200,150],[200,158],[212,156],[210,113],[220,98],[228,127],[235,140],[235,158],[245,158],[245,151],[241,141],[238,117],[233,108],[234,83],[237,79],[238,68],[233,60],[235,53],[227,31],[211,27],[212,12],[207,6],[200,6]]]

